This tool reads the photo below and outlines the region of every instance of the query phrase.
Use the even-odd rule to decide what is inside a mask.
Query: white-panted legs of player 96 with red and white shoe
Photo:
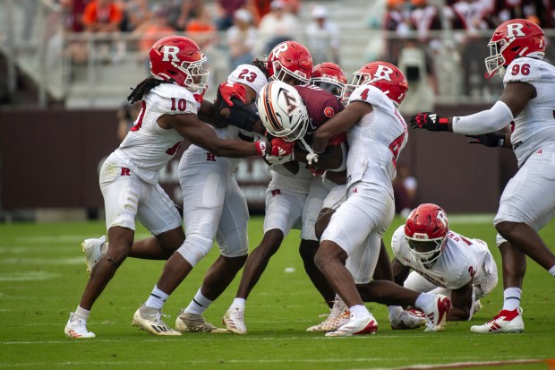
[[[503,263],[503,308],[490,322],[474,325],[481,333],[524,331],[520,299],[526,269],[526,254],[555,276],[555,255],[537,230],[555,215],[555,194],[545,192],[553,184],[555,168],[547,155],[534,153],[505,187],[499,211],[493,220],[499,231],[498,245]],[[551,264],[551,266],[550,266]]]

